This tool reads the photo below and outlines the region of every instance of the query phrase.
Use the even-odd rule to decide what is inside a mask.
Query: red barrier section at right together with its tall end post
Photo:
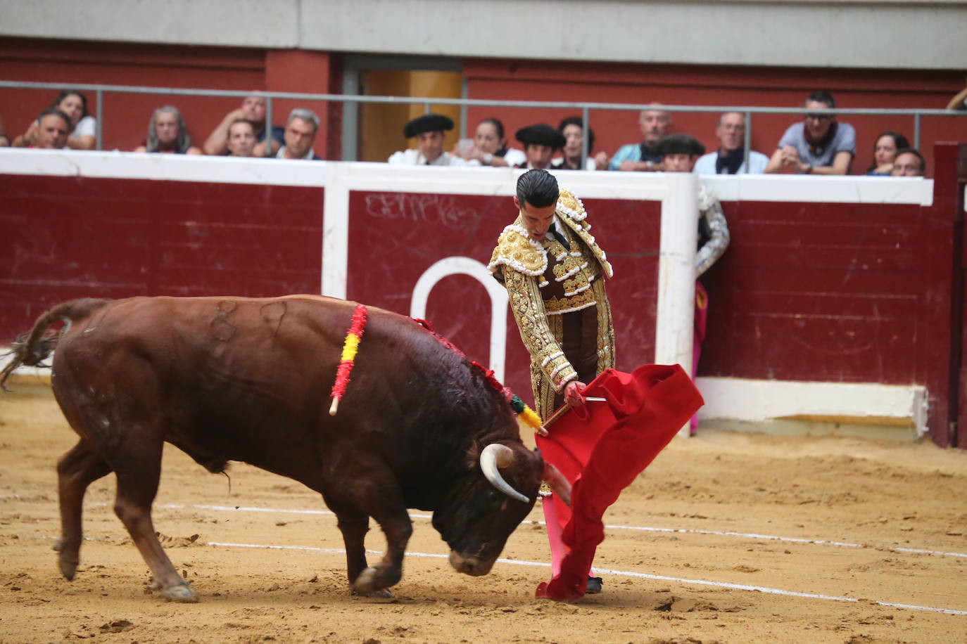
[[[697,375],[923,384],[931,437],[964,446],[967,146],[937,150],[930,207],[723,202]]]

